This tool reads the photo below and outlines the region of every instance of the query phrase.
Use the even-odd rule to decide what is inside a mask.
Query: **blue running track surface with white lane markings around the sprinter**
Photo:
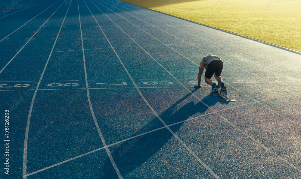
[[[121,1],[0,2],[0,178],[301,178],[298,52]],[[194,87],[210,54],[236,102]]]

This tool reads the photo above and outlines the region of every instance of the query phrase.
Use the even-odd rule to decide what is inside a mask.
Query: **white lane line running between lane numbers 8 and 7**
[[[85,0],[84,0],[84,2],[85,2]],[[85,2],[85,4],[86,4],[86,2]],[[78,13],[79,13],[79,4],[78,4],[78,0],[77,0],[77,5],[78,5]],[[86,4],[86,6],[88,7],[87,4]],[[88,9],[89,9],[89,7],[88,7]],[[89,11],[91,12],[90,9],[89,9]],[[92,14],[92,12],[91,12],[91,14]],[[93,14],[92,14],[92,16],[93,16]],[[94,16],[93,16],[93,17],[94,17]],[[94,19],[95,19],[95,17],[94,17]],[[96,20],[96,19],[95,19],[95,20]],[[79,15],[79,26],[80,26],[80,35],[81,35],[81,39],[82,39],[82,25],[81,25],[80,15]],[[99,25],[98,25],[98,26],[99,26]],[[99,26],[99,27],[100,27],[100,26]],[[107,38],[107,37],[106,37],[106,38]],[[98,126],[98,122],[97,122],[97,120],[96,120],[96,117],[95,117],[95,114],[94,114],[94,111],[93,111],[93,108],[92,108],[92,103],[91,103],[91,100],[90,100],[90,94],[89,94],[89,87],[88,87],[88,78],[87,78],[87,71],[86,71],[85,51],[84,51],[84,43],[83,43],[83,39],[82,39],[82,55],[83,55],[83,58],[84,58],[83,60],[84,60],[84,68],[85,68],[86,88],[87,88],[87,96],[88,96],[88,102],[89,102],[89,106],[90,106],[90,111],[91,111],[91,113],[92,113],[92,117],[93,117],[95,126],[96,126],[96,128],[97,128],[98,134],[99,134],[99,136],[100,136],[100,138],[101,138],[101,142],[103,143],[104,148],[105,148],[106,151],[107,151],[107,155],[108,155],[108,157],[110,158],[110,161],[111,161],[111,163],[112,163],[112,165],[113,165],[113,167],[114,167],[114,169],[115,169],[115,171],[116,171],[116,174],[118,175],[119,179],[123,179],[123,177],[122,177],[121,173],[119,172],[119,169],[118,169],[118,167],[116,166],[116,163],[115,163],[115,161],[114,161],[114,159],[113,159],[113,157],[112,157],[112,154],[111,154],[111,152],[110,152],[110,149],[107,147],[107,144],[106,144],[106,142],[105,142],[105,140],[104,140],[104,136],[102,135],[102,133],[101,133],[101,131],[100,131],[100,128],[99,128],[99,126]]]

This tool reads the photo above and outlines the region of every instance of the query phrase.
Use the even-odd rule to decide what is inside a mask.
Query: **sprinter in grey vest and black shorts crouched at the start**
[[[225,86],[224,82],[222,82],[222,77],[221,77],[223,67],[224,67],[224,63],[219,57],[215,55],[208,55],[204,57],[200,63],[199,74],[197,75],[197,85],[195,85],[195,87],[201,87],[200,83],[201,83],[201,77],[204,69],[206,69],[205,82],[208,85],[212,86],[212,91],[213,88],[219,88],[220,86],[222,87]],[[217,85],[216,83],[213,83],[211,80],[213,74],[214,74],[214,78],[218,82]]]

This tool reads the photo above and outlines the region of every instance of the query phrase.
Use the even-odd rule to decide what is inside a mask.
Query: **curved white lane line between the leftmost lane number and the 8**
[[[64,2],[65,2],[65,1],[64,1]],[[57,10],[64,4],[64,2],[57,8]],[[70,4],[71,4],[71,2],[70,2]],[[70,4],[69,4],[69,7],[70,7]],[[69,10],[69,7],[68,7],[68,10]],[[54,13],[55,13],[57,10],[55,10]],[[58,36],[59,36],[59,34],[60,34],[60,32],[61,32],[62,26],[63,26],[64,21],[65,21],[65,19],[66,19],[68,10],[67,10],[66,15],[65,15],[65,17],[64,17],[64,20],[63,20],[63,22],[62,22],[61,28],[60,28],[60,30],[59,30],[58,33],[57,33],[57,37],[56,37],[56,39],[55,39],[55,41],[54,41],[54,44],[53,44],[52,49],[51,49],[51,52],[50,52],[49,57],[48,57],[48,59],[47,59],[47,62],[46,62],[46,64],[45,64],[44,70],[43,70],[43,72],[42,72],[42,75],[41,75],[40,80],[39,80],[39,82],[38,82],[38,85],[37,85],[37,87],[36,87],[35,93],[33,94],[33,99],[32,99],[32,101],[31,101],[31,105],[30,105],[30,109],[29,109],[29,114],[28,114],[28,119],[27,119],[27,124],[26,124],[25,139],[24,139],[24,150],[23,150],[23,179],[26,179],[26,174],[27,174],[27,142],[28,142],[28,133],[29,133],[30,118],[31,118],[31,113],[32,113],[32,111],[33,111],[33,103],[34,103],[34,101],[35,101],[36,94],[37,94],[37,91],[38,91],[38,89],[39,89],[39,85],[40,85],[40,83],[41,83],[41,81],[42,81],[43,75],[44,75],[44,73],[45,73],[45,70],[46,70],[48,61],[49,61],[49,59],[50,59],[50,57],[51,57],[52,51],[53,51],[53,49],[54,49],[55,43],[57,42],[57,38],[58,38]],[[53,15],[54,13],[52,13],[52,15]],[[51,16],[52,16],[52,15],[51,15]],[[51,16],[50,16],[50,17],[51,17]],[[49,17],[48,19],[50,19],[50,17]],[[47,21],[48,21],[48,19],[47,19]],[[47,21],[46,21],[46,22],[47,22]],[[45,23],[46,23],[46,22],[45,22]],[[44,23],[44,24],[45,24],[45,23]]]

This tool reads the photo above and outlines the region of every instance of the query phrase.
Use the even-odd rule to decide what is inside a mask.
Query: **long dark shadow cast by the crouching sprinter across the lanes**
[[[195,89],[196,90],[196,89]],[[194,91],[195,91],[194,90]],[[194,92],[192,91],[192,93]],[[209,100],[212,97],[209,94],[206,96],[205,100]],[[195,100],[191,94],[187,94],[185,97],[182,97],[168,109],[166,109],[159,116],[167,124],[175,124],[170,128],[174,133],[185,123],[185,120],[191,118],[191,116],[202,115],[208,110],[208,107],[203,103],[198,102],[194,104],[192,99]],[[216,103],[216,102],[215,102]],[[208,106],[214,105],[214,102],[207,103]],[[199,119],[201,120],[201,119]],[[181,122],[183,121],[183,122]],[[145,125],[140,131],[135,133],[132,137],[137,136],[141,133],[147,133],[151,130],[164,127],[163,123],[158,119],[154,118],[147,125]],[[150,165],[149,159],[160,151],[160,149],[173,137],[172,133],[165,127],[160,130],[156,130],[151,133],[144,134],[142,136],[135,137],[126,142],[120,143],[115,147],[110,147],[112,157],[116,163],[117,168],[119,169],[121,175],[126,178],[132,178],[133,172],[138,167],[145,167],[144,165]],[[177,145],[180,145],[178,143]],[[161,160],[168,160],[169,156],[161,157]],[[160,161],[153,161],[160,162]],[[163,161],[161,161],[163,162]],[[155,169],[156,170],[156,169]],[[142,173],[138,174],[141,176]],[[131,174],[130,174],[131,173]],[[101,175],[100,175],[101,174]],[[129,175],[129,176],[128,176]],[[112,163],[109,159],[102,163],[101,169],[99,169],[98,176],[95,178],[118,178],[116,171],[114,170]]]

